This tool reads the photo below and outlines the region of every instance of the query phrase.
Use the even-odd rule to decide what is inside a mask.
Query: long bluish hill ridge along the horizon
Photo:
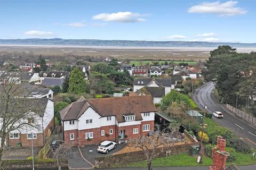
[[[16,45],[74,45],[74,46],[124,46],[124,47],[256,47],[256,43],[210,43],[203,41],[133,41],[97,39],[0,39],[0,44]]]

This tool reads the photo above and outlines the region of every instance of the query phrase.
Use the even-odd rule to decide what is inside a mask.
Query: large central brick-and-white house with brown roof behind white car
[[[60,111],[63,140],[84,146],[139,138],[154,131],[155,112],[150,96],[82,99]]]

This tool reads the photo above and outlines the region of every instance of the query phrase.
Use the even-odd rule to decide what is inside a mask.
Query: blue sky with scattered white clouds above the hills
[[[0,39],[256,43],[255,19],[255,0],[0,0]]]

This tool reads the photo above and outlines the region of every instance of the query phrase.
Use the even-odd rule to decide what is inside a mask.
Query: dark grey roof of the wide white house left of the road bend
[[[136,78],[133,81],[133,86],[148,86],[151,84],[151,82],[155,81],[158,86],[163,86],[163,87],[171,87],[172,84],[175,84],[175,80],[172,80],[171,78],[167,79],[161,79],[161,78]],[[138,83],[140,82],[140,83]],[[141,83],[143,82],[143,83]]]

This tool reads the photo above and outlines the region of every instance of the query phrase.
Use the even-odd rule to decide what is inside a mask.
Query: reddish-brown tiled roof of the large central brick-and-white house
[[[61,120],[77,120],[89,107],[92,107],[102,117],[116,116],[119,123],[125,122],[123,115],[135,114],[136,120],[142,120],[141,113],[156,111],[150,96],[89,99],[71,103],[62,109],[60,111]]]

